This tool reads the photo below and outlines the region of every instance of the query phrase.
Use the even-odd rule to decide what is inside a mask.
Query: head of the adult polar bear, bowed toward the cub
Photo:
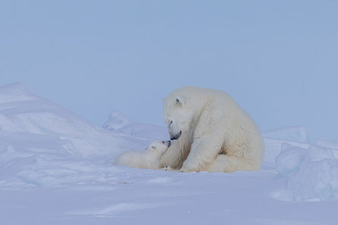
[[[165,98],[163,103],[163,119],[168,125],[170,140],[179,139],[181,134],[191,129],[196,114],[194,104],[184,94],[175,92]]]

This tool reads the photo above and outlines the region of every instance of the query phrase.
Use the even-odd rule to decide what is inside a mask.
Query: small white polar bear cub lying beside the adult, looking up
[[[141,169],[160,169],[160,157],[170,146],[170,141],[155,140],[144,151],[130,150],[118,156],[115,165]]]

